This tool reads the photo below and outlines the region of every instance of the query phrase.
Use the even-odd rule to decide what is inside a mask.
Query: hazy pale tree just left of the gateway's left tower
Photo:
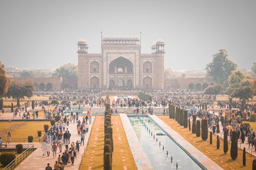
[[[62,78],[77,78],[78,67],[75,64],[64,64],[57,68],[55,72]]]

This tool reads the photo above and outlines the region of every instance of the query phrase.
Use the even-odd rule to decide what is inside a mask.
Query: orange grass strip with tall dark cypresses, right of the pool
[[[223,140],[220,139],[220,149],[216,148],[217,136],[212,135],[212,144],[209,142],[209,132],[208,139],[203,141],[201,136],[196,137],[196,134],[192,134],[188,128],[184,128],[180,126],[175,120],[170,119],[167,116],[158,116],[164,123],[173,128],[176,132],[178,132],[182,137],[184,137],[189,143],[193,144],[199,151],[204,153],[207,157],[215,161],[219,166],[223,169],[252,169],[252,160],[256,159],[256,157],[251,156],[246,153],[246,166],[243,166],[243,150],[238,149],[238,158],[236,160],[232,160],[230,157],[230,146],[231,143],[228,143],[228,152],[224,154],[223,152]],[[192,126],[192,124],[191,124]]]

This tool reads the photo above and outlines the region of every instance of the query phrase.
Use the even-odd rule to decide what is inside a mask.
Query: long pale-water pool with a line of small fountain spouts
[[[143,151],[154,169],[202,169],[147,116],[129,116]],[[167,154],[168,153],[168,154]]]

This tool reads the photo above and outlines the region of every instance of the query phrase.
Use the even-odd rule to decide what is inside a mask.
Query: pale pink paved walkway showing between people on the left
[[[79,116],[79,119],[82,120],[82,116]],[[79,169],[79,165],[80,165],[80,162],[82,159],[82,154],[84,154],[84,151],[86,149],[86,143],[89,140],[89,136],[91,134],[91,127],[93,125],[93,122],[94,122],[94,116],[92,118],[92,124],[90,125],[90,128],[89,128],[89,133],[86,134],[86,138],[84,140],[84,146],[81,145],[80,152],[75,159],[74,166],[72,166],[70,163],[65,166],[65,170]],[[69,128],[69,131],[71,133],[70,143],[76,142],[77,140],[80,141],[80,136],[77,134],[76,125],[77,124],[70,123],[69,126],[66,127],[66,128]],[[69,147],[70,147],[70,145],[69,145]],[[62,151],[64,151],[64,150],[65,150],[65,147],[63,146]],[[57,149],[57,156],[58,155],[62,156],[62,153],[59,153],[58,151],[59,151],[59,149]],[[27,159],[25,159],[22,163],[20,163],[16,167],[16,169],[18,169],[18,170],[28,170],[28,169],[45,170],[47,163],[50,163],[50,166],[52,166],[52,168],[54,168],[54,164],[55,164],[56,160],[57,160],[57,158],[53,158],[52,152],[50,153],[49,157],[42,156],[42,150],[41,150],[41,148],[38,148],[32,154],[30,154]]]

